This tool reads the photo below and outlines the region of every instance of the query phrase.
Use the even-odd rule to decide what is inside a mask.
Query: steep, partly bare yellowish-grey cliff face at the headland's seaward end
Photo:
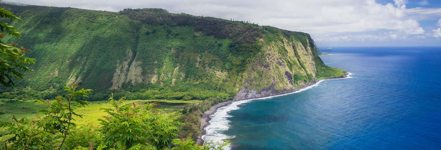
[[[282,32],[284,35],[272,33],[261,39],[263,50],[254,56],[247,68],[243,87],[235,100],[299,90],[316,82],[317,69],[334,72],[335,75],[329,78],[346,77],[344,70],[323,64],[318,57],[318,48],[308,34]]]

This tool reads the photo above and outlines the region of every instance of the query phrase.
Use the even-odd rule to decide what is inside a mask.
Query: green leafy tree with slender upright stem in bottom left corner
[[[57,96],[55,100],[37,100],[36,104],[44,105],[47,109],[38,111],[37,119],[28,121],[26,118],[17,119],[13,117],[12,122],[0,122],[0,128],[7,128],[11,135],[8,141],[11,143],[11,150],[33,150],[33,149],[58,149],[63,146],[69,128],[75,127],[71,120],[73,116],[81,117],[75,113],[79,107],[87,105],[86,101],[78,97],[87,97],[92,90],[78,88],[76,84],[65,87],[68,94],[65,97]],[[42,117],[39,117],[42,115]],[[57,142],[54,139],[62,139]],[[57,145],[57,146],[56,146]]]

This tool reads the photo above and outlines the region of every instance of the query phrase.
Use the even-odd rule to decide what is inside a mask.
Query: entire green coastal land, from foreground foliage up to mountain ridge
[[[321,61],[309,34],[271,26],[158,8],[2,7],[7,149],[220,150],[228,142],[194,142],[211,106],[242,87],[295,89],[344,73]]]

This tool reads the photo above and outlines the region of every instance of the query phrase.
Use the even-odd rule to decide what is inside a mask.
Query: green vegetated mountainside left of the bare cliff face
[[[35,71],[26,74],[33,78],[20,81],[37,91],[60,91],[65,84],[77,81],[103,94],[110,92],[109,88],[176,91],[177,86],[233,94],[239,86],[239,73],[245,71],[245,62],[252,56],[249,52],[260,48],[255,38],[262,30],[243,22],[161,11],[5,7],[24,18],[23,22],[11,22],[22,29],[19,43],[38,49],[29,53],[39,61],[30,66]],[[193,21],[206,25],[188,24]],[[229,30],[220,31],[224,29]],[[122,78],[115,78],[115,72],[121,72]]]

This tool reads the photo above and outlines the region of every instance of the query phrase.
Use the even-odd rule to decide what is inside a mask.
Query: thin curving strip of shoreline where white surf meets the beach
[[[327,79],[319,79],[319,80],[315,80],[315,82],[314,82],[313,84],[306,84],[306,86],[304,86],[304,87],[302,87],[302,88],[298,88],[298,89],[296,89],[296,90],[294,90],[294,91],[282,92],[282,93],[278,93],[277,95],[271,95],[271,96],[265,96],[265,97],[272,97],[272,96],[281,96],[281,95],[292,94],[292,93],[295,93],[295,92],[297,92],[297,91],[300,91],[300,90],[302,90],[302,89],[304,89],[304,88],[308,88],[308,87],[310,87],[310,86],[312,86],[312,85],[315,85],[315,84],[319,83],[321,80],[343,79],[343,78],[347,78],[347,77],[349,77],[349,76],[347,76],[347,75],[351,75],[351,73],[344,73],[344,75],[343,75],[343,76],[340,76],[340,77],[330,77],[330,78],[327,78]],[[265,98],[265,97],[259,97],[259,98],[253,98],[253,99],[261,99],[261,98]],[[242,100],[249,100],[249,99],[237,99],[237,100],[232,100],[232,101],[227,101],[227,102],[221,102],[221,103],[218,103],[218,104],[216,104],[216,105],[211,106],[211,108],[210,108],[209,110],[207,110],[207,111],[205,111],[204,113],[202,113],[202,116],[201,116],[201,127],[200,127],[201,134],[198,135],[198,140],[197,140],[197,142],[198,142],[199,144],[204,144],[204,143],[205,143],[205,141],[202,139],[202,136],[203,136],[203,135],[206,135],[206,130],[205,130],[205,128],[210,124],[210,123],[209,123],[209,121],[211,120],[210,115],[213,115],[214,113],[216,113],[217,109],[219,109],[219,108],[221,108],[221,107],[228,106],[228,105],[232,104],[233,102],[242,101]]]

